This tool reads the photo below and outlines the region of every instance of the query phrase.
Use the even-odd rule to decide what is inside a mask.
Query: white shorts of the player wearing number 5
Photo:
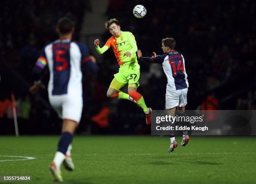
[[[59,118],[80,122],[83,109],[82,95],[49,95],[49,101]]]

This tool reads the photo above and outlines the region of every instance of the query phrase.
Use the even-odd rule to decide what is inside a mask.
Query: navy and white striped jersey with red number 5
[[[33,69],[34,79],[46,65],[49,67],[49,95],[69,94],[71,90],[82,90],[81,63],[90,67],[93,72],[97,66],[89,56],[89,49],[82,43],[70,39],[59,39],[46,45]]]

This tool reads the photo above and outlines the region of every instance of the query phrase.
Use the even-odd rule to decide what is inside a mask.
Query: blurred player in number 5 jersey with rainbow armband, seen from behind
[[[46,45],[33,68],[35,84],[30,88],[36,92],[41,84],[40,76],[44,67],[48,65],[50,79],[48,94],[51,106],[63,119],[62,134],[59,139],[58,150],[50,165],[50,171],[56,181],[63,181],[60,166],[64,161],[67,170],[74,170],[70,157],[71,142],[82,115],[82,72],[87,67],[92,72],[97,72],[95,61],[88,54],[87,46],[72,41],[74,23],[69,18],[61,18],[57,23],[56,32],[59,39]]]

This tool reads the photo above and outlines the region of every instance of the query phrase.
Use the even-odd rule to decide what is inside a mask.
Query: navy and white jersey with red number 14
[[[170,90],[178,90],[189,87],[185,60],[182,54],[177,51],[170,51],[166,54],[156,56],[154,63],[161,64],[167,77],[167,86]]]

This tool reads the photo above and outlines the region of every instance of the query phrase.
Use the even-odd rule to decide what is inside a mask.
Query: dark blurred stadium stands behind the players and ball
[[[256,1],[254,0],[14,0],[0,11],[0,134],[14,134],[16,101],[20,134],[56,134],[61,120],[49,105],[46,89],[31,95],[31,70],[44,45],[58,39],[57,20],[74,20],[74,40],[85,43],[97,59],[97,76],[84,71],[84,110],[78,134],[149,134],[142,110],[106,92],[118,64],[112,49],[99,56],[111,36],[104,22],[120,21],[131,31],[143,56],[162,54],[161,39],[174,37],[185,58],[189,110],[256,110]],[[133,16],[135,5],[147,14]],[[49,71],[43,74],[47,85]],[[141,63],[141,86],[148,107],[165,107],[167,79],[162,66]],[[127,92],[127,86],[123,88]],[[15,100],[14,98],[15,97]]]

